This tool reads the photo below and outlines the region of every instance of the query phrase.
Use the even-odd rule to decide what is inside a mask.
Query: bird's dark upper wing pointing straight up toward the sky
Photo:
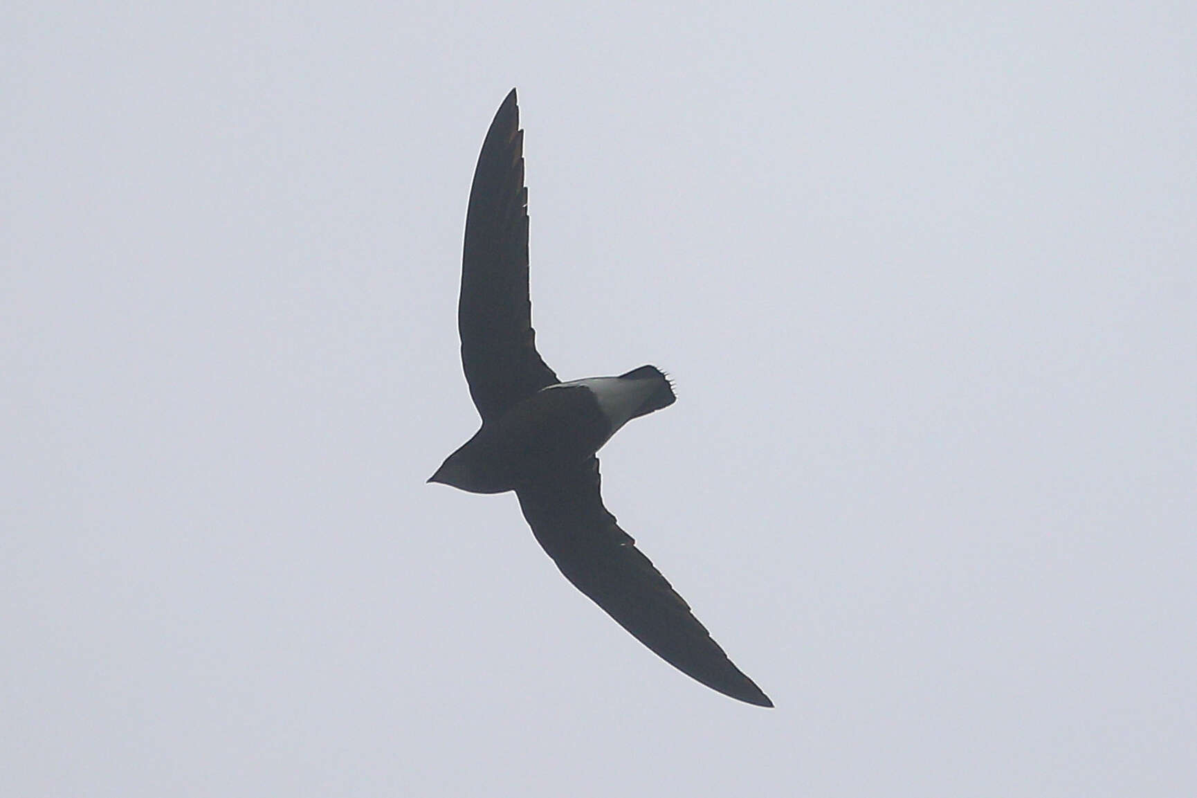
[[[466,381],[482,422],[558,382],[536,352],[528,298],[528,189],[516,90],[482,143],[466,214],[457,330]]]

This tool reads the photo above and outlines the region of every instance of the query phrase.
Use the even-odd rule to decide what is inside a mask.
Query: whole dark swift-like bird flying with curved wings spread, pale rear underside
[[[666,375],[561,382],[536,352],[528,298],[528,189],[512,89],[491,122],[466,216],[461,362],[482,427],[429,482],[516,491],[533,534],[575,587],[682,673],[772,707],[603,507],[595,453],[632,418],[675,401]]]

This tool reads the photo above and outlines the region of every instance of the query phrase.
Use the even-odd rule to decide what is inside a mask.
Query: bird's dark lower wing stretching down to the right
[[[565,578],[637,640],[713,690],[773,706],[603,507],[598,458],[516,494],[533,534]]]

